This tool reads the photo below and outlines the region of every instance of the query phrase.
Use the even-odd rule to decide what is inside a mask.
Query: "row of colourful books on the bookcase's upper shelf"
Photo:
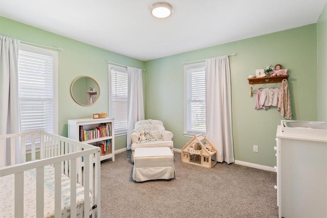
[[[100,124],[99,127],[85,130],[80,126],[80,141],[92,140],[95,138],[111,136],[111,123]]]

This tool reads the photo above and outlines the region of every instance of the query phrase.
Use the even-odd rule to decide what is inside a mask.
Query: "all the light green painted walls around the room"
[[[146,118],[161,119],[166,129],[173,132],[174,147],[177,149],[181,149],[190,140],[189,137],[183,136],[182,62],[236,54],[229,58],[236,160],[266,166],[276,164],[273,150],[275,133],[277,125],[283,118],[276,108],[266,111],[254,110],[254,96],[249,96],[247,78],[248,75],[254,74],[255,69],[281,63],[288,68],[290,76],[293,119],[326,119],[326,53],[323,49],[317,50],[317,43],[326,47],[326,7],[317,25],[308,25],[147,62],[4,17],[0,17],[0,34],[63,49],[58,52],[59,134],[63,136],[67,136],[67,119],[91,117],[95,112],[108,110],[107,60],[146,69],[143,79]],[[101,87],[100,99],[93,106],[80,106],[69,94],[71,82],[82,75],[96,79]],[[270,85],[267,84],[266,87]],[[317,93],[317,89],[322,93]],[[323,110],[317,113],[319,107]],[[254,144],[259,146],[259,153],[252,152]],[[126,136],[116,137],[115,150],[124,148],[126,148]]]

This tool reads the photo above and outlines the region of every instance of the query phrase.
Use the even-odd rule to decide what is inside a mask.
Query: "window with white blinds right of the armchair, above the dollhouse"
[[[205,63],[184,66],[184,134],[205,133]]]

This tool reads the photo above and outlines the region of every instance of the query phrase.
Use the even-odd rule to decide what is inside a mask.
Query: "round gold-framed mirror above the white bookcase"
[[[80,76],[71,84],[71,95],[77,104],[90,106],[99,99],[100,87],[95,79],[88,76]]]

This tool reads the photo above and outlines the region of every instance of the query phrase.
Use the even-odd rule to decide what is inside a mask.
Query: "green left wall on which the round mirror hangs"
[[[145,63],[141,60],[106,51],[1,16],[0,35],[63,49],[58,52],[58,133],[62,136],[67,136],[67,119],[87,118],[92,117],[93,113],[108,112],[107,61],[142,69],[145,67]],[[78,76],[89,76],[99,83],[101,93],[96,104],[81,106],[72,99],[70,86]],[[126,148],[126,136],[118,137],[116,142],[115,150]]]

